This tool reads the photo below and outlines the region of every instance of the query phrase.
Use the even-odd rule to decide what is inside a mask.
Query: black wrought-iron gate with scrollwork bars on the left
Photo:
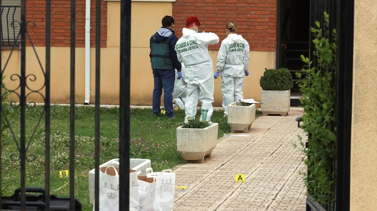
[[[0,0],[0,6],[2,1]],[[21,20],[12,20],[12,26],[19,26],[20,33],[14,40],[21,42],[21,60],[20,60],[20,74],[12,74],[11,80],[19,81],[17,88],[8,88],[3,83],[3,74],[6,72],[9,58],[12,52],[17,47],[17,42],[13,42],[11,54],[7,62],[1,64],[2,71],[0,74],[1,84],[1,103],[0,109],[0,122],[5,118],[8,127],[10,128],[15,145],[19,151],[19,155],[12,154],[11,160],[13,162],[20,162],[20,188],[15,191],[14,196],[2,196],[2,184],[0,182],[0,207],[1,209],[15,209],[15,210],[81,210],[81,204],[75,200],[75,14],[76,3],[71,0],[70,4],[70,167],[69,167],[69,184],[70,194],[69,198],[59,198],[50,194],[50,75],[51,75],[51,0],[46,0],[46,64],[45,66],[39,60],[37,51],[35,51],[33,40],[28,33],[28,25],[34,23],[28,22],[26,17],[26,0],[21,0]],[[3,7],[2,7],[3,12]],[[121,33],[120,33],[120,124],[119,124],[119,153],[120,153],[120,210],[129,209],[129,105],[130,105],[130,17],[131,17],[131,0],[121,0]],[[96,0],[96,55],[95,55],[95,210],[99,210],[99,165],[100,165],[100,20],[101,18],[101,0]],[[1,22],[1,21],[0,21]],[[3,37],[3,34],[2,36]],[[33,89],[28,86],[28,80],[35,81],[36,75],[33,72],[26,72],[26,40],[29,40],[35,55],[37,56],[40,68],[44,76],[44,84],[39,89]],[[3,42],[0,44],[0,51],[2,50]],[[54,71],[54,70],[52,70]],[[43,89],[45,93],[43,93]],[[3,97],[8,94],[15,94],[18,97],[18,102],[11,102],[13,108],[20,109],[20,138],[14,134],[12,126],[9,124],[6,112],[3,109]],[[41,114],[40,121],[45,119],[45,185],[41,188],[28,188],[25,185],[25,168],[29,161],[35,159],[35,155],[28,152],[30,143],[32,142],[31,136],[26,140],[26,117],[25,109],[33,108],[34,102],[28,102],[30,94],[39,94],[44,100],[44,112]],[[38,125],[37,125],[38,126]],[[34,131],[35,132],[35,131]],[[0,125],[0,134],[2,128]],[[0,157],[2,153],[2,144],[0,144]],[[0,181],[2,181],[2,165],[0,163]],[[40,195],[30,196],[26,193],[40,193]]]

